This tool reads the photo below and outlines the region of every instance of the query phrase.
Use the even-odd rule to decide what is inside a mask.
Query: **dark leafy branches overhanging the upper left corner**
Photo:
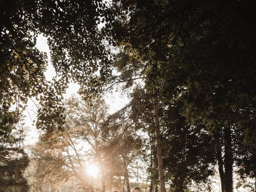
[[[99,81],[111,74],[110,54],[104,44],[111,21],[106,2],[4,0],[0,16],[0,141],[12,140],[14,124],[20,121],[28,99],[34,102],[34,97],[40,104],[35,102],[36,126],[50,138],[63,130],[61,100],[67,83],[79,82],[81,93],[88,98],[100,90]],[[106,27],[100,29],[100,22]],[[48,63],[46,54],[35,47],[38,34],[48,38],[57,72],[54,82],[47,82],[44,76]]]

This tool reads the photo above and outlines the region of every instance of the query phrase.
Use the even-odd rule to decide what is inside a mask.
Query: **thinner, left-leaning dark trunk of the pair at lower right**
[[[218,169],[219,169],[219,174],[220,174],[221,191],[225,192],[225,190],[224,190],[225,174],[224,174],[224,170],[223,170],[222,150],[221,150],[221,144],[220,144],[220,137],[219,137],[218,133],[214,133],[214,142],[215,142],[216,156],[217,156],[217,161],[218,161]]]

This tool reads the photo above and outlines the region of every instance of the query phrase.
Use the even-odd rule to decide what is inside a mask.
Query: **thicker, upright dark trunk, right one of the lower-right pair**
[[[225,192],[233,192],[233,154],[231,130],[224,128]]]

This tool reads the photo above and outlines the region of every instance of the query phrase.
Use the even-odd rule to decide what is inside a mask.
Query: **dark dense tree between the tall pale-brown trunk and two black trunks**
[[[216,164],[214,138],[200,123],[187,122],[181,114],[182,107],[181,102],[176,102],[160,110],[166,179],[171,181],[175,192],[189,190],[192,184],[196,184],[197,190],[210,191],[209,177],[214,175]]]

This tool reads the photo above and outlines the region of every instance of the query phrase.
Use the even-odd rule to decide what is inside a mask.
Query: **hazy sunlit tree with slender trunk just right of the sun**
[[[105,162],[102,159],[102,124],[108,116],[108,106],[104,100],[96,98],[90,103],[77,97],[67,101],[67,129],[72,130],[72,137],[82,140],[92,148],[92,159],[98,164],[102,179],[102,192],[105,192]]]

